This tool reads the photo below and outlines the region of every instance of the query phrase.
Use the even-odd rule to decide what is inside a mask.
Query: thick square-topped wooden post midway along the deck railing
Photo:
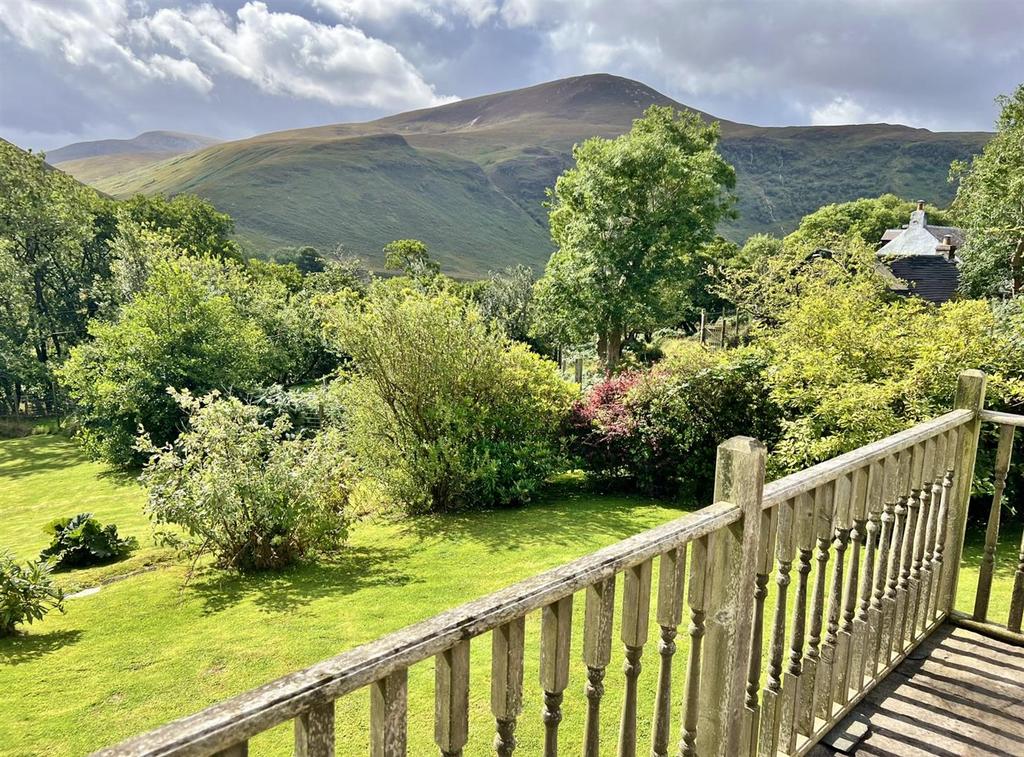
[[[733,436],[718,448],[715,502],[731,502],[742,517],[710,535],[707,636],[696,753],[739,753],[750,667],[755,574],[765,479],[765,448]]]

